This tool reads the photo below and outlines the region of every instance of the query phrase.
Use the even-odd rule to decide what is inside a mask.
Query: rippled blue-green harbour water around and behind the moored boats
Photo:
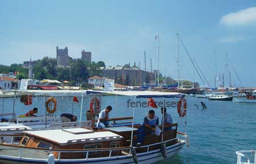
[[[63,112],[72,112],[72,98],[58,97],[57,112],[60,115]],[[85,120],[86,110],[89,109],[91,97],[83,99],[82,120]],[[117,110],[110,113],[110,117],[132,116],[133,109],[127,108],[127,96],[118,96]],[[74,103],[75,114],[80,117],[81,98],[79,103]],[[144,101],[146,99],[136,99]],[[155,99],[163,100],[163,99]],[[177,101],[177,99],[168,99]],[[203,101],[207,109],[200,107]],[[5,112],[13,111],[13,98],[0,99],[0,112],[2,107]],[[34,97],[31,106],[24,106],[15,99],[15,113],[21,115],[31,110],[33,107],[39,108],[38,115],[44,115],[45,98]],[[111,105],[115,109],[115,96],[102,96],[102,107]],[[194,104],[197,104],[197,108]],[[154,109],[156,115],[160,117],[160,110]],[[158,163],[236,163],[237,150],[256,149],[256,104],[233,103],[221,101],[209,101],[207,99],[188,98],[187,125],[185,119],[179,120],[176,108],[168,108],[167,112],[171,114],[174,122],[179,123],[178,131],[187,132],[190,137],[191,146],[186,146],[179,154],[171,159],[160,161]],[[145,108],[135,110],[135,122],[141,123],[146,114]]]

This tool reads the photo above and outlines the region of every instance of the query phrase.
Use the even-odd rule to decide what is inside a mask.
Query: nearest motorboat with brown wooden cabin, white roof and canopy
[[[101,94],[103,91],[86,91]],[[107,92],[108,94],[108,92]],[[114,91],[114,95],[136,98],[184,98],[184,94],[155,91]],[[189,146],[187,133],[177,132],[177,124],[159,126],[159,136],[146,133],[143,143],[135,145],[140,124],[117,123],[113,127],[93,128],[81,126],[56,129],[32,129],[23,132],[18,144],[0,144],[0,163],[154,163],[171,158]],[[184,111],[183,111],[184,113]],[[183,115],[182,115],[183,116]],[[181,135],[181,136],[180,136]],[[1,134],[0,134],[1,136]],[[184,137],[184,138],[182,138]]]

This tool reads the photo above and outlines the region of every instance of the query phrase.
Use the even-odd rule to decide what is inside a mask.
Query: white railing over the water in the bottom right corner
[[[237,151],[237,164],[251,164],[251,158],[254,158],[254,164],[256,164],[256,150],[241,150]],[[254,157],[252,157],[254,156]],[[246,159],[246,162],[242,162],[242,158]]]

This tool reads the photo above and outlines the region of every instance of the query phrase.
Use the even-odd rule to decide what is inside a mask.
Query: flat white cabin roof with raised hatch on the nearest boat
[[[42,131],[24,132],[28,136],[42,138],[47,141],[55,142],[59,145],[72,145],[90,142],[102,142],[120,140],[123,138],[118,134],[109,131],[94,132],[84,128],[68,128],[68,129],[49,129]]]

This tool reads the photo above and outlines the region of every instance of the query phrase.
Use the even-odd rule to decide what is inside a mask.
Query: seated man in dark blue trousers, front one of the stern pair
[[[137,145],[138,143],[140,143],[142,145],[146,136],[146,128],[150,129],[149,134],[154,134],[156,131],[156,126],[158,126],[158,124],[158,116],[155,116],[154,110],[150,110],[148,112],[148,115],[144,117],[143,124],[141,125],[141,127],[139,127],[137,131],[137,141],[135,142],[135,144]]]

